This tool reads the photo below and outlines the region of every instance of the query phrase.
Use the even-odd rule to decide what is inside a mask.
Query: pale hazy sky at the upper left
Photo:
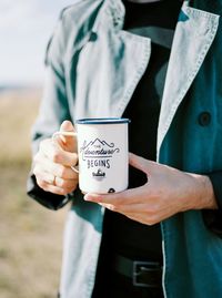
[[[41,85],[60,11],[77,0],[0,0],[0,85]]]

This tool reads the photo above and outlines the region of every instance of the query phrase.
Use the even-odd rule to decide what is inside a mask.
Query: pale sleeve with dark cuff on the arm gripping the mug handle
[[[51,137],[64,120],[71,120],[65,94],[65,79],[62,58],[64,55],[64,37],[62,18],[50,40],[46,55],[46,83],[38,119],[32,129],[32,153],[38,152],[42,140]],[[41,189],[32,173],[27,183],[28,195],[51,209],[61,208],[70,196],[54,195]]]

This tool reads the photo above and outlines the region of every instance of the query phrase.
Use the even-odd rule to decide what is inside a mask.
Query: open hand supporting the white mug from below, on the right
[[[206,176],[184,173],[134,154],[130,154],[130,164],[147,174],[148,182],[143,186],[117,194],[87,194],[84,199],[147,225],[179,212],[216,208]]]

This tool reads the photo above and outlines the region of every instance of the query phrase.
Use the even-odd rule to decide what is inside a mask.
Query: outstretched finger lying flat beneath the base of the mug
[[[84,199],[94,203],[112,204],[115,206],[120,206],[138,203],[141,201],[141,197],[144,197],[144,195],[145,196],[149,195],[148,189],[144,189],[144,186],[141,186],[114,194],[100,195],[88,193],[84,196]]]

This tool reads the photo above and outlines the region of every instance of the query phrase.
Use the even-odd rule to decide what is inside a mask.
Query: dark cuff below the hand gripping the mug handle
[[[30,175],[28,178],[27,194],[44,207],[52,210],[62,208],[71,199],[70,195],[62,196],[43,191],[38,186],[34,175]]]

